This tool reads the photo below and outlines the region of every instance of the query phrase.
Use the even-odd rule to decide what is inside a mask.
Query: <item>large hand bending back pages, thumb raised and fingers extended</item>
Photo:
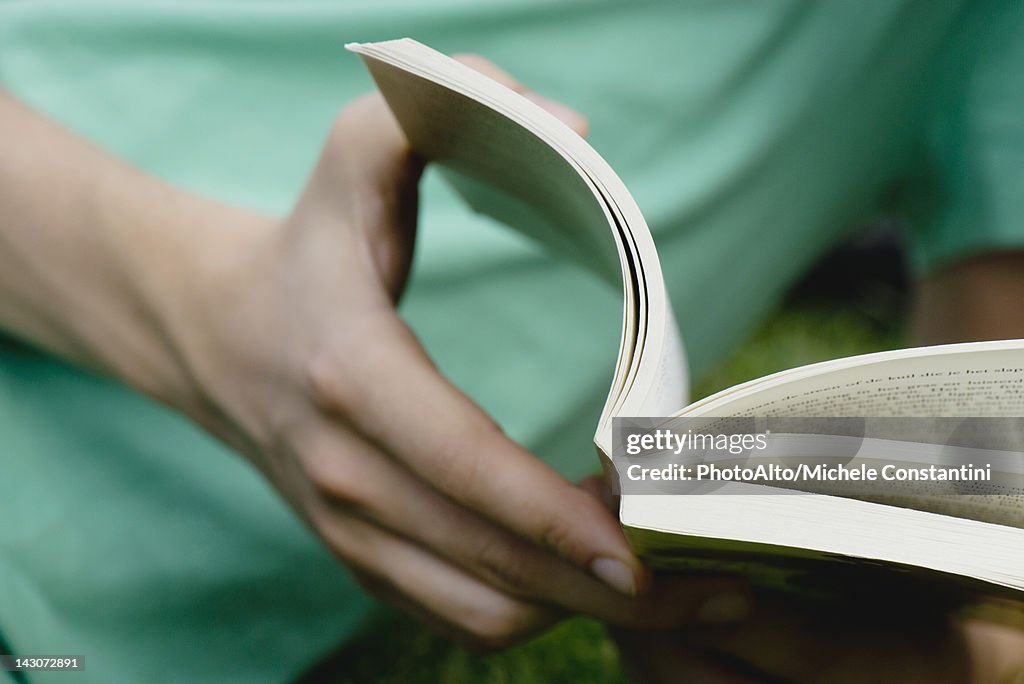
[[[398,316],[420,172],[369,95],[290,216],[208,230],[160,306],[189,379],[168,400],[249,458],[367,589],[463,643],[504,645],[563,610],[721,618],[700,606],[736,582],[645,593],[616,520],[508,439]]]

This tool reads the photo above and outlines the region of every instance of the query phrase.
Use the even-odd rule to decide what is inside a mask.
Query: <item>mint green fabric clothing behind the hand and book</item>
[[[1021,14],[1019,0],[8,0],[0,83],[175,183],[286,212],[335,112],[371,87],[346,41],[484,54],[588,116],[655,233],[699,373],[893,187],[924,210],[922,268],[1024,242]],[[593,468],[620,293],[433,175],[420,234],[403,312],[441,369],[563,472]],[[370,607],[242,459],[128,389],[0,347],[0,633],[88,658],[81,677],[30,681],[281,680]]]

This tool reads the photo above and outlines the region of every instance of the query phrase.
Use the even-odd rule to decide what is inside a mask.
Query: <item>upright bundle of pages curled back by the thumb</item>
[[[415,41],[348,48],[362,56],[413,148],[438,163],[471,206],[622,281],[623,335],[599,452],[607,453],[611,416],[678,410],[685,359],[657,252],[607,163],[536,103]]]

